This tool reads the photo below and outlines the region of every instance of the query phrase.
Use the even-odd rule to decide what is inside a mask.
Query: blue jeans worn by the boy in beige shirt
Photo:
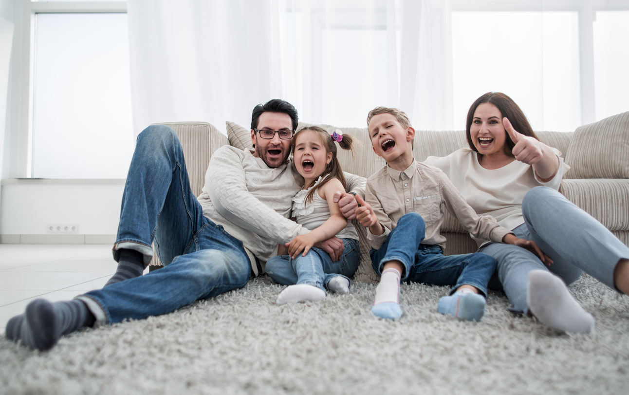
[[[399,219],[379,250],[369,253],[377,274],[384,264],[399,260],[404,265],[402,281],[434,286],[453,286],[450,294],[463,285],[476,287],[487,296],[487,282],[496,270],[496,260],[484,253],[443,255],[438,245],[421,244],[426,224],[420,214],[408,213]]]

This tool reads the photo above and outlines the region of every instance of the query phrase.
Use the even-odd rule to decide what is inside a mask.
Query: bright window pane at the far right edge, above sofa
[[[629,11],[599,11],[594,22],[596,120],[629,111]]]

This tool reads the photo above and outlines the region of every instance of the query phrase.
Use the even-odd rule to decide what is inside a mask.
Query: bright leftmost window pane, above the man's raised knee
[[[33,177],[123,179],[133,155],[127,16],[36,14]]]

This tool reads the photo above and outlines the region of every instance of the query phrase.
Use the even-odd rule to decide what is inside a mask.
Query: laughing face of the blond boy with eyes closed
[[[406,167],[413,162],[413,146],[411,142],[415,137],[415,129],[411,126],[404,128],[398,119],[389,113],[374,115],[367,126],[371,145],[376,155],[384,158],[391,167],[399,163]],[[408,163],[408,164],[407,164]],[[403,167],[402,170],[406,169]],[[398,169],[400,170],[400,169]]]

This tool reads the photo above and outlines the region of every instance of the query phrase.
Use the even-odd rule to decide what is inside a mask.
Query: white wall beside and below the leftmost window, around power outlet
[[[113,242],[124,180],[18,180],[22,149],[23,1],[0,0],[0,18],[13,23],[13,48],[0,123],[0,234],[11,243]],[[0,130],[1,131],[1,130]],[[0,143],[0,147],[2,144]],[[0,148],[1,149],[1,148]],[[79,225],[78,233],[48,233],[47,225]]]

